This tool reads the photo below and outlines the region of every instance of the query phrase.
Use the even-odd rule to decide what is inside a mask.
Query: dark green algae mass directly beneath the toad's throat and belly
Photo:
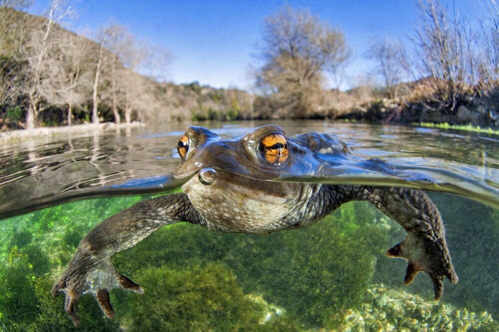
[[[222,261],[245,292],[264,294],[307,327],[332,326],[342,311],[360,303],[376,256],[393,245],[381,216],[365,202],[351,202],[312,227],[268,236],[177,224],[116,254],[113,263],[140,283],[137,268]]]

